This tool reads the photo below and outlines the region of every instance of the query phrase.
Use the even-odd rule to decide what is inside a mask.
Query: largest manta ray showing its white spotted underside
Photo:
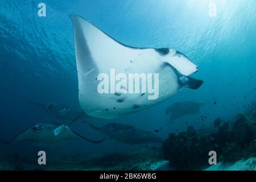
[[[189,77],[198,67],[183,53],[172,48],[138,48],[127,46],[107,35],[88,20],[70,15],[73,22],[76,66],[79,80],[79,102],[86,114],[98,118],[118,118],[148,109],[167,100],[184,88],[198,89],[202,80]],[[99,93],[98,76],[114,70],[122,77],[117,93]],[[149,100],[148,93],[130,93],[122,83],[129,74],[158,74],[158,98]],[[152,81],[152,80],[150,80]],[[147,84],[149,80],[147,80]],[[110,80],[110,86],[113,83]],[[126,93],[128,92],[129,93]]]

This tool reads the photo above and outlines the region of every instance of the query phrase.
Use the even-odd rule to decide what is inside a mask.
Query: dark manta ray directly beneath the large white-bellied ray
[[[88,123],[93,129],[118,140],[118,142],[126,144],[163,143],[163,139],[157,135],[148,131],[138,130],[134,126],[108,123],[103,127],[96,127],[87,121],[84,122]]]

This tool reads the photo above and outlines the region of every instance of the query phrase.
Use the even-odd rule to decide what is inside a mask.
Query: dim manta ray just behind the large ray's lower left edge
[[[28,100],[28,102],[30,102],[30,104],[43,106],[44,109],[46,109],[46,113],[54,115],[57,119],[69,121],[71,123],[77,119],[84,119],[89,117],[89,115],[85,114],[84,111],[74,111],[68,106],[55,104],[52,102],[49,102],[48,104],[32,102],[30,100]],[[69,125],[71,123],[69,123]]]

